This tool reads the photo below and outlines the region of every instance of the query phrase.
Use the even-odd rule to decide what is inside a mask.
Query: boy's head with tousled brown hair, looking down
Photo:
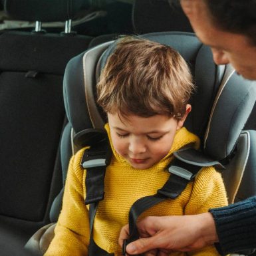
[[[116,152],[136,169],[158,163],[191,110],[192,91],[190,70],[174,49],[121,39],[97,84]]]

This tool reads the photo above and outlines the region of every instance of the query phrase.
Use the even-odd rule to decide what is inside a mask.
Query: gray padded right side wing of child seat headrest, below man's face
[[[256,82],[234,73],[227,81],[209,121],[205,152],[222,160],[231,154],[256,100]]]

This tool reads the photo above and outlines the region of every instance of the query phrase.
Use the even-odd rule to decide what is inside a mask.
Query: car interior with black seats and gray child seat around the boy
[[[170,45],[191,68],[197,90],[185,126],[202,143],[199,156],[177,157],[214,162],[229,203],[256,195],[255,82],[213,63],[179,1],[1,0],[0,9],[0,255],[47,249],[68,161],[86,146],[80,134],[106,120],[95,85],[121,35]]]

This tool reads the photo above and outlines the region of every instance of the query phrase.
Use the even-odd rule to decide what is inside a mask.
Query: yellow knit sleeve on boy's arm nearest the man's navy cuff
[[[193,182],[190,200],[186,205],[184,214],[193,215],[209,211],[212,207],[227,205],[227,195],[221,174],[213,167],[203,168],[197,174]],[[193,256],[218,256],[214,246],[192,251],[188,255]]]

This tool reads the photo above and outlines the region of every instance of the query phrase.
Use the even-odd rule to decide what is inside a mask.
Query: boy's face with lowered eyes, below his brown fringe
[[[122,118],[117,113],[108,114],[114,149],[132,167],[148,169],[170,152],[176,131],[183,126],[187,114],[180,121],[166,115]]]

